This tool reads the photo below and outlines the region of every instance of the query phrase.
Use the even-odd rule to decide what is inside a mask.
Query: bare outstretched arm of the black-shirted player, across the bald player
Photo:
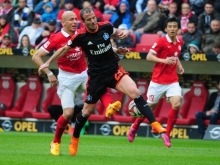
[[[70,46],[65,45],[64,47],[58,49],[44,64],[40,66],[38,69],[39,75],[42,74],[42,70],[45,68],[48,68],[50,63],[53,62],[54,60],[62,57],[64,54],[66,54],[69,50],[71,49]]]

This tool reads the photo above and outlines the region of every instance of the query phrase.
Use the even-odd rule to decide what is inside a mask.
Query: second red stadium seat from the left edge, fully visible
[[[39,76],[29,76],[27,83],[20,88],[14,108],[6,110],[5,116],[12,118],[32,117],[33,112],[38,109],[41,92],[42,84]]]

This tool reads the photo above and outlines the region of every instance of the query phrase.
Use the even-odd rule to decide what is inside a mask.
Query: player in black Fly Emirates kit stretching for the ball
[[[119,57],[112,49],[111,36],[124,39],[129,35],[129,32],[116,29],[109,22],[97,22],[94,12],[89,8],[82,9],[80,16],[85,28],[75,34],[66,46],[56,51],[45,65],[39,68],[43,69],[45,66],[49,66],[53,59],[63,56],[72,47],[81,46],[85,50],[88,59],[89,78],[84,107],[82,112],[77,115],[74,133],[69,145],[70,154],[76,155],[80,131],[93,112],[96,102],[108,87],[115,88],[134,99],[138,109],[149,120],[155,132],[166,132],[166,129],[156,121],[135,82],[119,65]]]

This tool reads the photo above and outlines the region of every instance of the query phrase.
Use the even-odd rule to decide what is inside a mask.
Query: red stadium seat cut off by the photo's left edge
[[[5,109],[11,109],[15,96],[16,84],[10,74],[2,74],[0,79],[0,104]],[[5,110],[0,110],[0,116],[5,116]]]

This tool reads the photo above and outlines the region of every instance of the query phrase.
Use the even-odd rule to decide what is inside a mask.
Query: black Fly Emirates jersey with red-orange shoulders
[[[118,56],[114,53],[110,37],[114,27],[109,22],[99,22],[94,33],[81,29],[68,41],[68,46],[81,46],[88,58],[88,75],[115,73]]]

